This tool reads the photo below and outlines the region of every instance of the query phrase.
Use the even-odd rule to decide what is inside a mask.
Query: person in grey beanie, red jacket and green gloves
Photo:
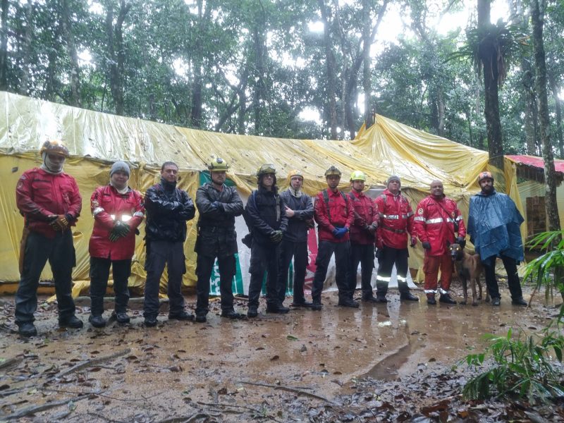
[[[116,305],[112,317],[128,323],[128,278],[135,252],[135,231],[143,220],[145,208],[139,191],[128,186],[130,170],[124,161],[111,166],[110,182],[98,187],[90,198],[94,229],[90,237],[90,317],[92,326],[106,326],[104,295],[110,266],[114,274]]]

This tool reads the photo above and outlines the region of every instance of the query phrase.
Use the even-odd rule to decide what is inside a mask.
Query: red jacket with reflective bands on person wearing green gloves
[[[122,195],[111,185],[98,187],[90,198],[90,209],[94,216],[94,229],[88,245],[90,257],[111,260],[128,260],[133,257],[135,228],[140,225],[145,214],[140,192],[129,188]],[[116,219],[127,221],[131,230],[127,236],[112,243],[109,235]]]

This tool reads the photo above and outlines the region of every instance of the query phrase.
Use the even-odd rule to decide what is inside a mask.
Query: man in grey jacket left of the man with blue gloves
[[[278,271],[278,298],[283,301],[286,295],[286,282],[292,257],[294,258],[292,307],[311,307],[312,303],[305,300],[304,280],[307,267],[307,231],[313,228],[312,197],[302,192],[304,176],[301,171],[293,170],[288,173],[288,190],[280,197],[286,207],[288,229],[283,235],[280,247],[280,269]]]

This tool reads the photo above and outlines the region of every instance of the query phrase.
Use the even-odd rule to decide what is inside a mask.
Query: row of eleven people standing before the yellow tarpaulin
[[[80,216],[82,199],[72,176],[63,172],[68,149],[60,142],[47,141],[41,149],[43,163],[39,168],[25,171],[18,180],[16,201],[25,217],[25,228],[20,252],[20,284],[16,293],[16,324],[22,336],[35,336],[34,312],[37,309],[37,286],[47,261],[54,276],[59,326],[80,328],[83,323],[75,316],[71,296],[71,274],[75,266],[75,250],[71,227]],[[207,321],[209,312],[210,278],[214,263],[219,268],[221,316],[238,319],[243,314],[233,307],[232,281],[236,272],[235,254],[238,252],[235,217],[243,214],[249,235],[243,243],[251,250],[250,284],[247,317],[258,315],[259,297],[266,274],[266,312],[288,313],[283,302],[286,298],[288,269],[293,259],[293,307],[321,310],[321,291],[331,257],[335,256],[338,305],[359,307],[353,299],[357,286],[357,269],[361,266],[362,301],[388,302],[386,294],[391,271],[396,265],[400,300],[418,301],[407,286],[408,240],[415,247],[417,238],[425,250],[425,293],[429,305],[436,304],[437,274],[441,269],[439,301],[455,304],[449,295],[453,264],[446,250],[448,243],[465,243],[465,226],[453,200],[443,195],[443,185],[431,183],[431,195],[412,212],[409,201],[401,193],[398,176],[390,176],[384,192],[372,200],[364,194],[366,176],[355,171],[350,176],[351,190],[347,194],[338,189],[341,171],[331,166],[325,172],[327,188],[312,198],[302,192],[304,176],[293,170],[288,174],[289,187],[278,192],[276,169],[264,164],[257,171],[257,190],[253,191],[243,207],[235,188],[226,185],[228,165],[223,159],[213,159],[208,164],[211,180],[197,190],[195,204],[184,190],[177,188],[178,166],[167,161],[161,166],[161,180],[142,197],[128,185],[130,168],[116,161],[109,174],[109,184],[94,190],[90,200],[94,228],[90,238],[90,324],[104,327],[104,295],[110,268],[114,277],[115,306],[112,318],[124,324],[130,321],[127,314],[128,278],[135,250],[137,226],[145,213],[145,243],[147,257],[145,270],[144,317],[146,326],[155,326],[159,314],[159,284],[165,266],[168,271],[168,319]],[[484,176],[485,175],[485,176]],[[488,177],[489,176],[489,177]],[[490,173],[481,173],[481,197],[470,207],[470,235],[477,251],[482,245],[486,283],[494,305],[499,305],[499,292],[495,279],[495,258],[503,259],[510,275],[513,303],[522,304],[515,260],[522,260],[522,245],[517,245],[515,225],[522,217],[509,197],[493,190]],[[500,207],[513,207],[510,219],[498,216],[500,233],[510,233],[507,242],[498,250],[489,242],[489,231],[483,231],[479,220],[472,214],[472,204],[478,204],[481,214],[487,213],[488,203],[481,200],[501,198],[494,203],[494,212]],[[513,206],[512,206],[513,204]],[[183,274],[186,271],[184,242],[186,221],[193,219],[196,208],[197,221],[197,304],[195,316],[186,312],[181,293]],[[515,214],[516,212],[516,214]],[[521,221],[519,221],[519,218]],[[304,280],[308,262],[307,232],[318,227],[319,248],[312,286],[312,302],[304,295]],[[410,239],[408,239],[408,237]],[[471,238],[472,239],[472,238]],[[485,240],[485,241],[484,241]],[[376,278],[376,296],[372,289],[374,246],[379,259]],[[520,250],[520,252],[519,252]],[[489,267],[488,267],[489,266]],[[515,272],[513,272],[515,270]],[[515,279],[516,278],[516,279]],[[526,304],[526,302],[525,302]]]

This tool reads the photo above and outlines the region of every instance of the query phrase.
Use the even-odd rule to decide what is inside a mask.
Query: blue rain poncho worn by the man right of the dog
[[[508,195],[494,190],[490,195],[479,192],[470,198],[467,233],[482,262],[505,255],[518,262],[524,258],[519,226],[523,216]]]

